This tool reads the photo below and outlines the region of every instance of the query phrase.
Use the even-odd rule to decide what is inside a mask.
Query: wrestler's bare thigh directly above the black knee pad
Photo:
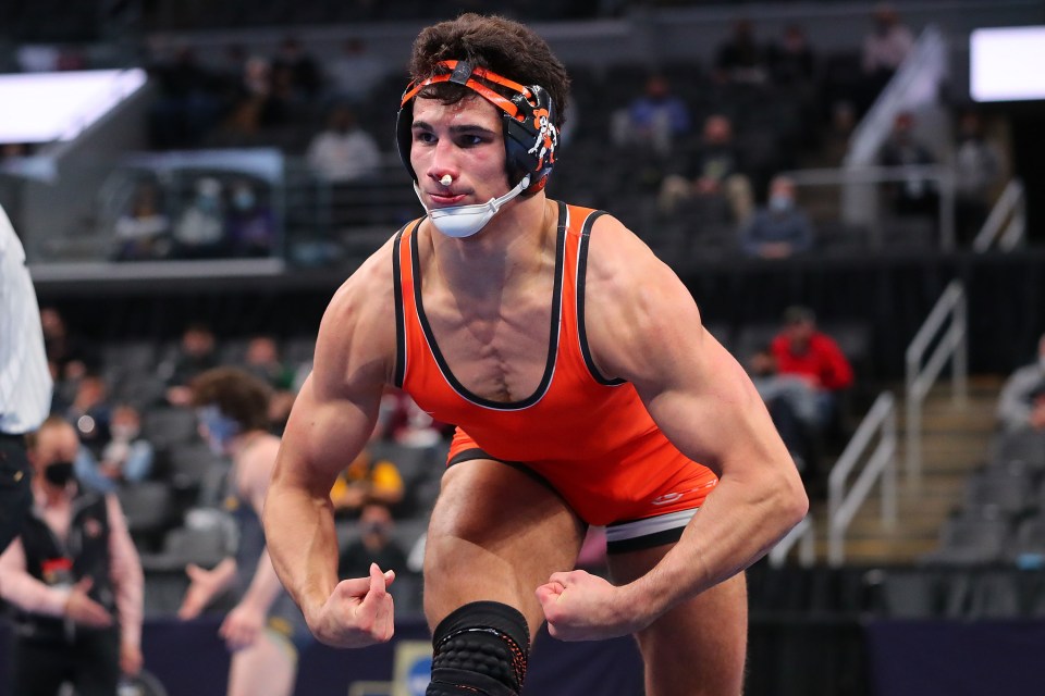
[[[425,545],[425,613],[435,626],[470,601],[513,606],[533,634],[544,620],[534,592],[573,570],[583,524],[552,488],[488,459],[443,474]]]

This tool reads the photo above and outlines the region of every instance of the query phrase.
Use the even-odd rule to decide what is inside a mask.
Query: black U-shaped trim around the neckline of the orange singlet
[[[435,359],[435,364],[439,365],[443,377],[450,384],[451,388],[466,401],[471,401],[476,406],[496,411],[516,411],[533,406],[548,393],[548,388],[552,383],[552,375],[555,373],[555,361],[558,357],[558,335],[563,314],[563,264],[566,253],[566,221],[567,208],[565,203],[560,202],[558,232],[555,238],[555,287],[552,291],[552,327],[549,332],[550,335],[548,339],[548,362],[544,364],[544,375],[541,377],[541,383],[537,386],[537,390],[520,401],[494,401],[472,394],[465,388],[454,373],[451,372],[446,359],[439,349],[439,344],[435,343],[435,336],[432,334],[432,326],[428,322],[428,316],[425,314],[425,306],[421,299],[420,256],[417,250],[417,244],[410,245],[410,263],[414,269],[414,304],[417,307],[417,316],[421,323],[421,331],[425,332],[425,338],[428,340],[432,357]]]

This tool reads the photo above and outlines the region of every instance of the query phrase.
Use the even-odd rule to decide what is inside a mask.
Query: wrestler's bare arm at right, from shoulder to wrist
[[[593,357],[636,386],[676,447],[720,476],[675,548],[625,588],[648,622],[758,560],[808,501],[762,399],[703,330],[686,287],[619,223],[599,225],[586,306]]]

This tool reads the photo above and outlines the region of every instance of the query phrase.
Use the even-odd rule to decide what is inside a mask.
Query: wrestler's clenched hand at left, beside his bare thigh
[[[343,580],[327,601],[305,611],[308,627],[321,643],[335,648],[361,648],[386,643],[394,632],[394,607],[388,587],[395,573],[370,564],[368,577]]]

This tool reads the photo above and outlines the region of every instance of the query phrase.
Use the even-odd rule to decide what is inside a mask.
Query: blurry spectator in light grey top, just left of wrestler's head
[[[305,159],[320,177],[335,184],[355,182],[378,169],[381,151],[373,137],[360,128],[345,104],[334,107],[327,127],[316,134]]]

